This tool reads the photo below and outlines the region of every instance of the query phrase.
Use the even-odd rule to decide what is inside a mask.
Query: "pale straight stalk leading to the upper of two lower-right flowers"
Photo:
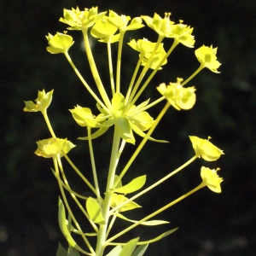
[[[125,206],[126,203],[130,202],[130,201],[134,201],[135,199],[137,199],[139,196],[147,193],[149,190],[154,189],[156,186],[160,185],[160,183],[163,183],[166,181],[166,179],[168,179],[169,177],[172,177],[174,174],[176,174],[177,172],[180,172],[181,170],[183,170],[186,166],[189,166],[193,161],[195,161],[198,158],[198,155],[195,154],[195,156],[193,156],[190,160],[188,160],[187,162],[185,162],[182,166],[179,166],[175,171],[170,172],[168,175],[166,175],[165,177],[162,177],[158,182],[152,184],[151,186],[149,186],[147,189],[143,189],[143,191],[137,193],[137,195],[132,196],[131,198],[129,198],[127,201],[121,203],[119,206],[114,207],[111,211],[110,214],[112,214],[113,212],[116,212],[119,210],[119,208]]]

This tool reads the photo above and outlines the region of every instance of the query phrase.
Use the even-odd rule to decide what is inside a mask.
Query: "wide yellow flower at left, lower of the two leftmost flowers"
[[[67,139],[60,139],[51,137],[37,142],[38,149],[35,154],[43,156],[45,158],[51,158],[57,156],[57,154],[67,154],[72,148],[75,147],[73,143],[67,141]]]

